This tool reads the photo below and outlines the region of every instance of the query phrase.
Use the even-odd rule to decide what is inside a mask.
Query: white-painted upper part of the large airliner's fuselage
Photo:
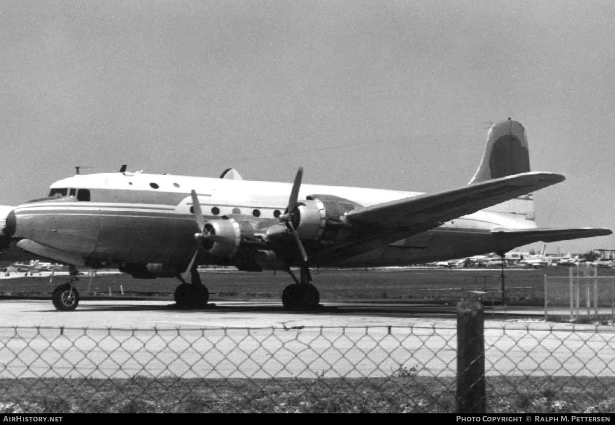
[[[244,214],[260,218],[277,218],[276,211],[284,212],[292,185],[274,181],[229,180],[224,178],[191,177],[170,174],[147,173],[100,173],[75,175],[58,180],[50,186],[54,188],[103,189],[111,191],[130,191],[133,202],[108,202],[97,200],[95,196],[85,204],[74,204],[76,210],[87,209],[157,209],[165,207],[169,213],[185,215],[190,213],[192,205],[190,191],[194,189],[206,218],[216,216]],[[174,194],[175,196],[168,196]],[[356,202],[363,207],[384,202],[415,197],[421,192],[394,191],[389,189],[370,189],[352,186],[301,185],[298,199],[306,199],[313,194],[328,194]],[[181,198],[180,202],[173,199]],[[153,200],[161,204],[153,204]],[[26,204],[27,205],[27,204]],[[66,206],[65,203],[62,204]],[[173,207],[173,210],[170,208]],[[219,212],[213,214],[211,209],[217,207]],[[490,231],[495,228],[536,228],[533,220],[525,216],[504,215],[490,211],[479,211],[444,223],[442,228],[467,228]]]

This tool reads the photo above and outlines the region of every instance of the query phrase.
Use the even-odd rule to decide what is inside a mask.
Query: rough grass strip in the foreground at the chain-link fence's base
[[[609,413],[612,378],[486,378],[487,413]],[[455,413],[454,378],[0,379],[0,413]],[[52,390],[52,391],[50,391]]]

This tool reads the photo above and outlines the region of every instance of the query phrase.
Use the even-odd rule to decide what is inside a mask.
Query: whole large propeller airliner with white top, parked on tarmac
[[[59,310],[79,303],[78,266],[117,266],[135,278],[177,277],[180,308],[201,308],[208,290],[199,264],[284,270],[295,284],[287,309],[315,309],[311,266],[402,266],[505,253],[538,240],[611,234],[609,229],[541,229],[531,192],[564,180],[531,172],[525,129],[493,125],[469,185],[435,194],[342,186],[130,173],[77,174],[50,186],[0,222],[0,246],[71,264],[53,295]],[[2,211],[2,209],[0,209]],[[10,241],[10,243],[8,243]],[[300,269],[296,277],[293,267]]]

